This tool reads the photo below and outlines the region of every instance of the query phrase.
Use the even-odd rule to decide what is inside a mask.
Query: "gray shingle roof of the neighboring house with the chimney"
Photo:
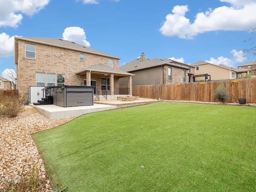
[[[146,58],[143,61],[140,61],[140,58],[135,59],[127,64],[124,64],[123,66],[120,66],[119,68],[123,71],[127,71],[127,72],[133,72],[133,71],[138,71],[138,70],[144,70],[147,68],[154,68],[154,67],[158,67],[158,66],[162,66],[162,65],[170,65],[173,67],[177,67],[177,68],[183,68],[183,69],[189,69],[189,65],[187,65],[188,67],[184,67],[184,66],[180,66],[180,65],[176,65],[176,63],[178,64],[179,62],[175,62],[173,60],[170,59],[148,59]],[[186,65],[186,64],[183,64]]]

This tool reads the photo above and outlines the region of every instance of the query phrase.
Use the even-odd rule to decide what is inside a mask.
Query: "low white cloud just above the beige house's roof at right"
[[[228,67],[235,67],[235,64],[242,63],[246,58],[244,57],[243,51],[237,51],[233,49],[230,51],[233,54],[233,58],[226,58],[223,56],[218,57],[217,59],[211,57],[210,60],[206,60],[206,62],[210,62],[216,65],[223,64]]]

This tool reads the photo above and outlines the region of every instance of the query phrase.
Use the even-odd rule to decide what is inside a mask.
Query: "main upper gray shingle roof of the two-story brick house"
[[[41,43],[41,44],[48,44],[51,46],[57,46],[57,47],[62,47],[62,48],[67,48],[67,49],[71,49],[71,50],[78,50],[81,52],[86,52],[86,53],[91,53],[91,54],[96,54],[96,55],[101,55],[101,56],[106,56],[109,58],[116,58],[116,59],[120,59],[116,56],[86,47],[84,45],[75,43],[75,42],[71,42],[71,41],[67,41],[67,40],[63,40],[63,39],[58,39],[58,38],[39,38],[39,37],[15,37],[17,39],[21,39],[21,40],[28,40],[28,41],[32,41],[32,42],[36,42],[36,43]]]

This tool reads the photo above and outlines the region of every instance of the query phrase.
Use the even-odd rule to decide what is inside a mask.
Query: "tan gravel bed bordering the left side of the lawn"
[[[49,120],[34,108],[25,107],[25,111],[15,118],[0,117],[0,183],[19,180],[23,166],[26,173],[33,164],[42,163],[32,133],[54,128],[74,119]],[[51,186],[44,166],[41,167],[40,174],[45,183],[44,191],[49,191]]]

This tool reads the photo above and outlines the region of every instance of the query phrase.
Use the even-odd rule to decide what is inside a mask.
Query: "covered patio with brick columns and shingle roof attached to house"
[[[76,72],[81,85],[94,86],[94,95],[100,100],[116,100],[120,95],[132,96],[132,76],[134,74],[96,64]],[[128,77],[128,88],[119,88],[119,78]]]

